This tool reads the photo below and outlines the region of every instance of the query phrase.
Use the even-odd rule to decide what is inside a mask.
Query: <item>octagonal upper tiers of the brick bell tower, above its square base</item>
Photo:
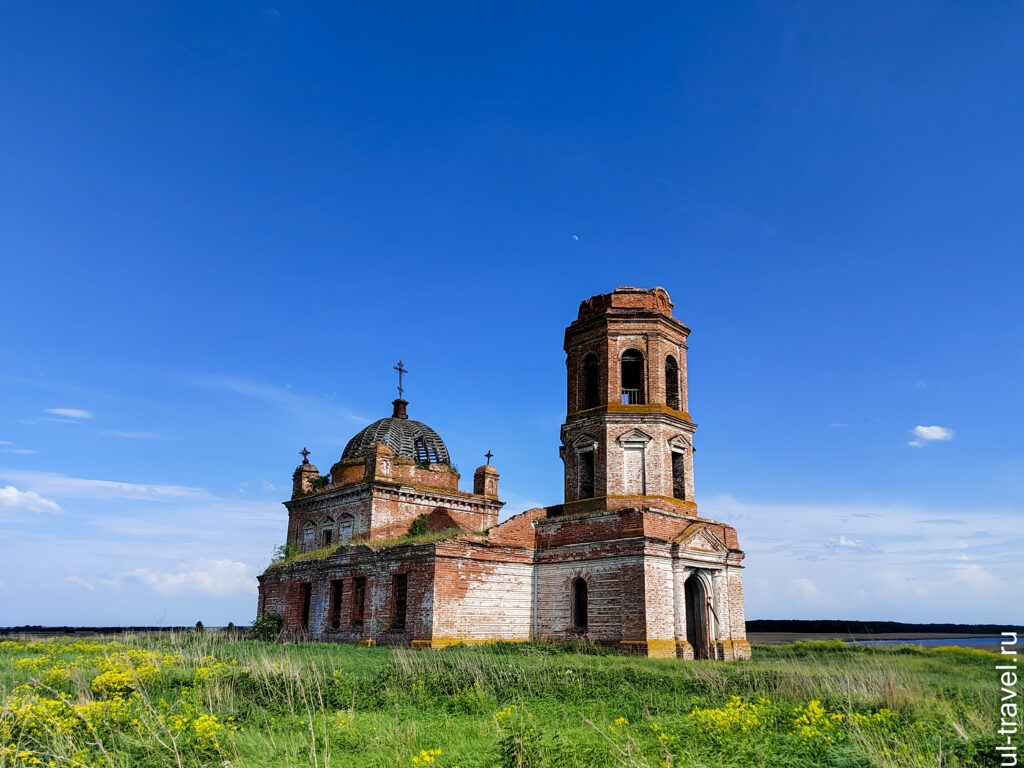
[[[565,329],[564,512],[695,517],[686,337],[664,288],[616,288]]]

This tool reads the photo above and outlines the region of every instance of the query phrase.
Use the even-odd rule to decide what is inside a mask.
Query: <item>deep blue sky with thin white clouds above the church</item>
[[[562,330],[618,285],[693,329],[749,617],[1020,621],[1022,24],[3,4],[0,625],[250,621],[399,357],[466,480],[561,501]]]

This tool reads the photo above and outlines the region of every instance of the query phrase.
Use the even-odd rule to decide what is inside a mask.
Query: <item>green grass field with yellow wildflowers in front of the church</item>
[[[841,642],[750,663],[220,633],[0,642],[7,766],[990,766],[996,657]]]

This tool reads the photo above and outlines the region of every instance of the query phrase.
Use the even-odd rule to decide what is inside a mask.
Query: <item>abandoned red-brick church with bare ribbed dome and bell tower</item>
[[[259,578],[259,613],[315,640],[582,638],[749,657],[736,531],[694,502],[689,329],[672,306],[662,288],[618,288],[584,301],[566,329],[562,504],[499,522],[489,457],[460,490],[444,441],[409,418],[400,390],[329,475],[303,456],[285,503],[303,554]]]

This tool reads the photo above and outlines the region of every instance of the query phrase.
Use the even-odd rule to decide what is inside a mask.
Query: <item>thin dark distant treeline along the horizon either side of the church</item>
[[[195,632],[196,626],[188,627],[43,627],[22,625],[20,627],[0,627],[0,635],[113,635],[123,632]],[[217,630],[223,627],[211,626]],[[246,627],[229,626],[229,629],[245,630]],[[952,635],[998,635],[1000,632],[1024,632],[1024,625],[1011,624],[908,624],[905,622],[857,622],[842,618],[756,618],[746,623],[748,632],[785,632],[791,634],[842,635],[886,635],[898,633],[952,634]]]

